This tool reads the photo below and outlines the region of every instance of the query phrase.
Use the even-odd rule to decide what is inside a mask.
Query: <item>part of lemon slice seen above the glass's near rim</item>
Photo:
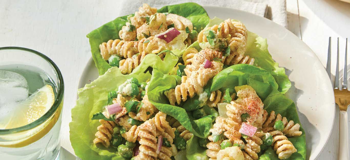
[[[50,85],[43,86],[16,107],[16,114],[13,114],[5,129],[18,128],[34,122],[43,116],[54,102],[55,94],[52,87]]]

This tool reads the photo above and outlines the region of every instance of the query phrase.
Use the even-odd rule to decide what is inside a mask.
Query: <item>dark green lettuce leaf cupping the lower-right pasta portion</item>
[[[296,148],[297,152],[293,153],[288,160],[305,160],[306,158],[306,139],[305,131],[299,121],[299,116],[295,104],[278,90],[278,85],[272,75],[262,69],[247,64],[238,64],[230,66],[219,72],[212,82],[212,89],[234,88],[235,86],[249,85],[254,88],[258,96],[264,103],[264,109],[267,112],[275,111],[276,114],[281,114],[287,117],[288,121],[293,120],[294,123],[300,124],[302,135],[299,137],[288,138]],[[193,139],[196,139],[194,137]],[[205,159],[205,148],[198,146],[196,140],[187,141],[186,157],[188,160]],[[194,147],[197,146],[197,147]],[[206,160],[206,159],[205,159]],[[278,155],[273,148],[269,146],[267,150],[259,157],[259,160],[279,160]]]

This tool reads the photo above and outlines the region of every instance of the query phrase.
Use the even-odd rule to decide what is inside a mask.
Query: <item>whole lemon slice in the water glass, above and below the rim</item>
[[[18,108],[16,114],[12,116],[9,123],[6,125],[6,129],[17,128],[31,122],[43,116],[54,104],[55,95],[53,89],[50,85],[45,85],[38,89],[36,93],[29,96],[27,100],[22,101]],[[0,139],[5,141],[0,141],[1,147],[23,147],[27,146],[47,134],[51,128],[56,124],[59,115],[61,114],[63,102],[57,108],[57,111],[48,118],[47,121],[36,126],[33,129],[1,135]]]

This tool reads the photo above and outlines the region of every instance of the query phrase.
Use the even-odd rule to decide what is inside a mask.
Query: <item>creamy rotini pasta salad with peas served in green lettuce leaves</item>
[[[72,109],[83,160],[306,158],[285,70],[241,21],[143,4],[87,37],[100,76]]]

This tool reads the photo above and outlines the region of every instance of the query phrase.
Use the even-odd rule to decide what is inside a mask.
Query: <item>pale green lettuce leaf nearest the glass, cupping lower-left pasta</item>
[[[75,154],[84,160],[124,160],[120,157],[116,148],[105,148],[102,145],[94,145],[93,139],[97,132],[98,120],[91,117],[100,112],[107,102],[107,94],[116,90],[119,85],[128,78],[137,78],[139,82],[145,82],[151,78],[150,73],[121,74],[119,68],[112,67],[104,75],[100,75],[84,88],[78,89],[78,100],[72,108],[72,122],[69,123],[70,141]]]

